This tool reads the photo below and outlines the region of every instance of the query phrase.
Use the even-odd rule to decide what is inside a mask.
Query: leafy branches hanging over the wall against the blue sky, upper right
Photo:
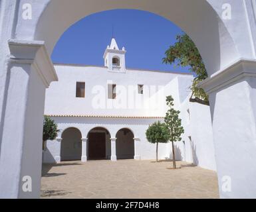
[[[190,87],[192,89],[190,101],[209,105],[208,95],[202,88],[197,87],[203,79],[208,77],[199,51],[187,34],[178,35],[176,40],[177,42],[166,50],[166,57],[163,58],[163,62],[165,64],[178,64],[182,67],[190,66],[190,71],[196,75]],[[193,97],[195,98],[193,99]]]

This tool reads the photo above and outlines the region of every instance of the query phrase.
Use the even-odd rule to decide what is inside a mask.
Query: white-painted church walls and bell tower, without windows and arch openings
[[[106,52],[112,52],[111,57],[108,58],[110,61],[108,68],[56,64],[55,70],[59,81],[52,83],[45,97],[45,115],[55,120],[61,130],[60,134],[72,127],[80,130],[84,140],[81,160],[86,162],[88,158],[86,136],[96,127],[103,127],[110,132],[109,159],[112,161],[117,159],[117,142],[122,142],[116,140],[117,132],[124,128],[130,129],[134,134],[132,138],[134,140],[131,141],[134,142],[134,159],[154,159],[156,145],[147,141],[145,132],[155,121],[164,121],[167,111],[166,96],[172,95],[176,108],[182,111],[180,116],[186,131],[183,136],[184,148],[182,148],[183,142],[176,145],[176,159],[215,170],[209,107],[199,103],[189,103],[191,95],[189,87],[192,85],[193,76],[126,69],[125,58],[122,58],[124,52],[118,50],[114,38],[106,48]],[[108,55],[106,52],[103,56],[104,60]],[[113,57],[122,58],[120,69],[114,72],[111,64]],[[76,82],[85,83],[84,98],[76,97]],[[116,84],[116,99],[108,99],[108,83]],[[138,93],[138,85],[144,85],[143,94]],[[188,115],[188,111],[191,115]],[[193,138],[192,142],[189,141],[189,136]],[[44,156],[43,162],[58,162],[55,158],[59,159],[60,143],[55,142],[56,146],[52,141],[49,143],[47,151],[44,152],[47,156]],[[172,158],[170,146],[170,144],[160,144],[159,158]],[[128,150],[120,150],[120,152],[125,151]]]

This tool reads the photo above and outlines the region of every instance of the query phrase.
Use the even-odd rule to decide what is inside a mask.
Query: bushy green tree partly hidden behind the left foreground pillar
[[[45,116],[43,123],[43,149],[45,149],[47,140],[55,140],[57,138],[59,132],[57,128],[58,126],[55,121]]]

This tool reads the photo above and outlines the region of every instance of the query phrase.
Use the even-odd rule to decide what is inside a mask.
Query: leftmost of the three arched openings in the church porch
[[[82,134],[73,127],[66,129],[62,134],[61,161],[81,160],[82,156]]]

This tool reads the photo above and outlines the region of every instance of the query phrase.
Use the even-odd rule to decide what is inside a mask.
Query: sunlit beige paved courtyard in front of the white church
[[[109,160],[44,165],[42,198],[218,198],[215,172],[178,162]]]

